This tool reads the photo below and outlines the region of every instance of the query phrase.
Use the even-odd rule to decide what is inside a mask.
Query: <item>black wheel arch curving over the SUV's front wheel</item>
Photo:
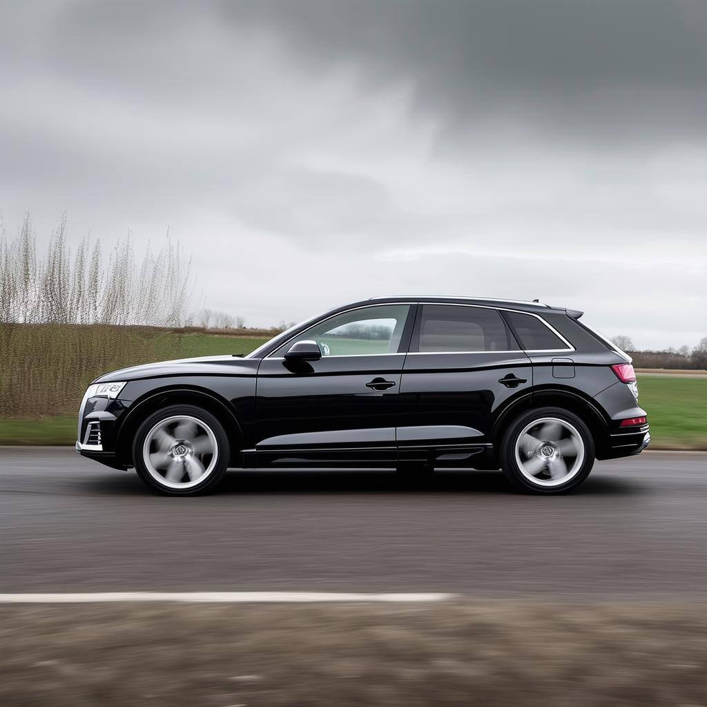
[[[243,440],[243,429],[236,419],[233,409],[228,402],[211,390],[187,385],[164,387],[160,390],[151,390],[138,398],[126,412],[116,437],[116,454],[124,464],[133,464],[132,440],[137,429],[144,419],[153,412],[168,405],[196,405],[216,416],[226,430],[228,439],[233,441]],[[240,453],[240,445],[231,445],[231,459],[233,462]]]

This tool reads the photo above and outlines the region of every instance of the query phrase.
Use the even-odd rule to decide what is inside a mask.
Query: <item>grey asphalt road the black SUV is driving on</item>
[[[162,498],[66,448],[0,448],[0,592],[322,590],[707,599],[707,455],[597,464],[571,496],[498,472],[232,472]]]

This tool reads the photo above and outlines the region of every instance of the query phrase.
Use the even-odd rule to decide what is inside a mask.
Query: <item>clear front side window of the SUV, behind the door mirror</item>
[[[284,356],[296,341],[316,341],[322,356],[395,354],[410,305],[380,305],[344,312],[291,339],[273,356]]]

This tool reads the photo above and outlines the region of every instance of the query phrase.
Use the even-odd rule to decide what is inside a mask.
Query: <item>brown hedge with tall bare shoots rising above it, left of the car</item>
[[[129,239],[69,249],[66,221],[37,247],[29,218],[0,235],[0,418],[76,414],[107,370],[170,358],[165,328],[192,320],[189,259],[169,237],[136,257]],[[168,340],[169,339],[169,340]]]

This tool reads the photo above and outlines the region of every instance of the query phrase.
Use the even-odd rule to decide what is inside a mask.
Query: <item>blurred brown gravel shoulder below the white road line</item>
[[[690,705],[707,604],[0,607],[0,703]]]

